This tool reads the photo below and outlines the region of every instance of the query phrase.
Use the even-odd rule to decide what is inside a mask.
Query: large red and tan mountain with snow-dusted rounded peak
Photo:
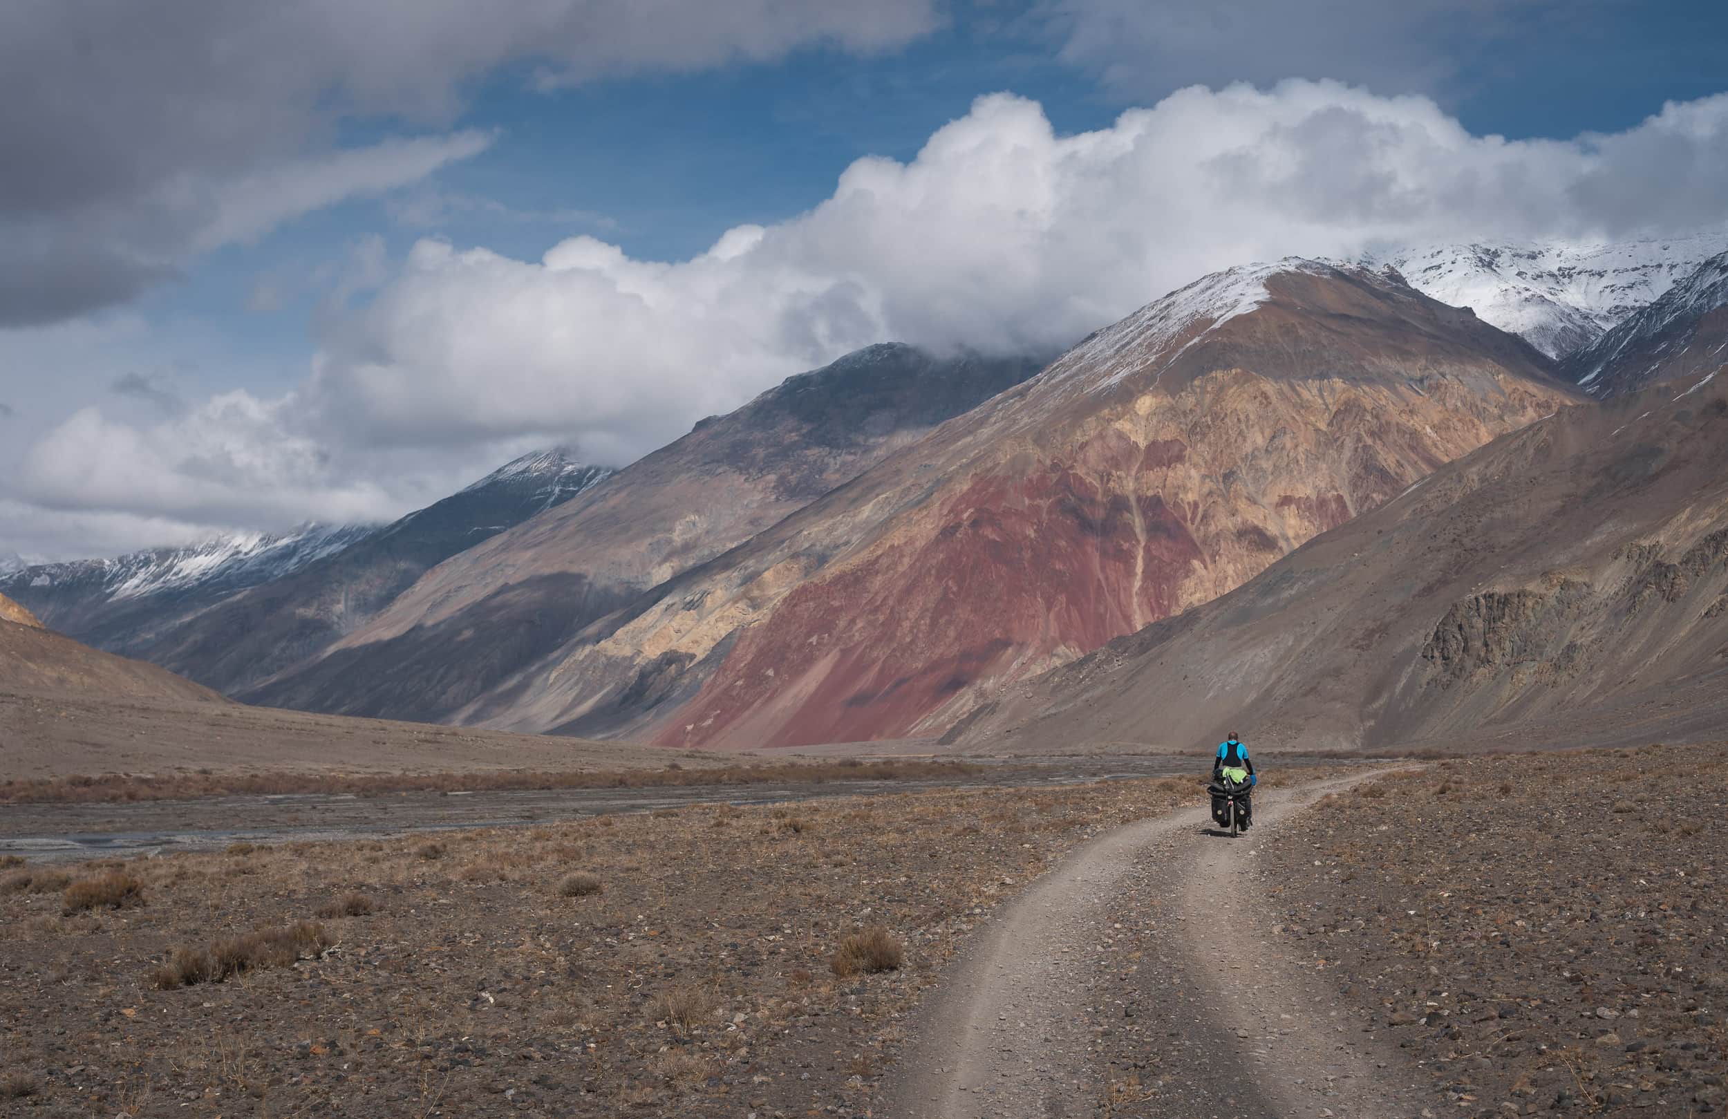
[[[1396,280],[1225,273],[465,715],[683,746],[940,734],[1572,399],[1522,342]]]

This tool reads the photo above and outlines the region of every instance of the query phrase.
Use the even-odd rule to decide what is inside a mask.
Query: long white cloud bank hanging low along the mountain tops
[[[1336,83],[1187,88],[1075,136],[994,95],[914,161],[861,159],[810,212],[691,261],[422,242],[297,390],[154,427],[86,409],[35,444],[17,492],[195,523],[385,516],[453,463],[534,442],[629,461],[869,342],[1044,352],[1251,259],[1719,226],[1725,181],[1728,95],[1528,142]]]

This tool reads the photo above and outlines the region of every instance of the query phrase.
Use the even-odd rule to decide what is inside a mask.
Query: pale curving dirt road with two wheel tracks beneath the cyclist
[[[1265,791],[1234,841],[1189,810],[1071,855],[919,1012],[885,1114],[1419,1116],[1431,1095],[1388,1071],[1396,1059],[1346,1026],[1336,991],[1282,960],[1256,915],[1261,844],[1370,775]]]

